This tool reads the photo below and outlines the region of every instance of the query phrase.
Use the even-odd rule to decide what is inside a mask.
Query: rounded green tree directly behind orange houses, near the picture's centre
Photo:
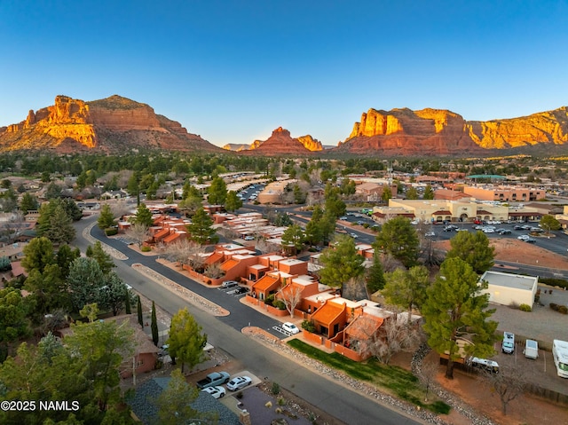
[[[319,256],[319,262],[323,265],[319,271],[319,281],[329,287],[342,287],[349,279],[365,272],[364,261],[350,236],[337,235],[333,245],[324,249]]]

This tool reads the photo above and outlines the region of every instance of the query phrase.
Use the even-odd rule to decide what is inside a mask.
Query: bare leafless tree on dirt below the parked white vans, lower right
[[[515,366],[512,360],[506,360],[499,365],[498,374],[485,371],[485,377],[491,388],[499,396],[501,412],[506,415],[509,402],[525,392],[526,368]]]

